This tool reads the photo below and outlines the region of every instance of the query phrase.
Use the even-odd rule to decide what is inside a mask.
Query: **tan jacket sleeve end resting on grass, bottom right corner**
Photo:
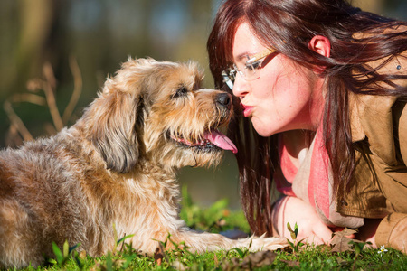
[[[396,248],[407,254],[407,214],[393,212],[387,215],[376,230],[377,247]]]

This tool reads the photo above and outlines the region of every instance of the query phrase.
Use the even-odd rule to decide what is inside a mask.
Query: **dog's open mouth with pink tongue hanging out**
[[[232,151],[233,154],[238,152],[237,147],[232,143],[232,140],[218,130],[205,132],[203,138],[200,138],[194,142],[191,142],[182,136],[177,137],[175,135],[171,135],[171,138],[181,145],[198,148],[200,150],[222,149]]]

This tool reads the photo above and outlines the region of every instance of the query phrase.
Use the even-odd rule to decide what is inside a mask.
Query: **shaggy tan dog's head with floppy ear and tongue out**
[[[219,128],[232,117],[230,94],[201,89],[194,62],[129,60],[107,79],[85,113],[87,138],[108,168],[128,173],[137,163],[167,170],[216,164],[237,152]]]

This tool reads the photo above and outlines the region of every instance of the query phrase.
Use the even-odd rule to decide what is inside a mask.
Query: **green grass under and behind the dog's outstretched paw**
[[[194,229],[211,232],[242,229],[249,233],[241,211],[229,210],[225,200],[202,209],[194,204],[184,188],[182,203],[181,217]],[[171,241],[171,237],[166,240]],[[56,257],[50,259],[48,266],[24,270],[407,270],[407,256],[392,248],[382,253],[379,249],[358,251],[357,248],[336,253],[328,246],[296,246],[298,242],[275,252],[249,253],[246,249],[231,249],[199,255],[186,248],[146,257],[118,240],[115,251],[97,258],[80,253],[80,247],[69,248],[65,244],[62,250],[54,248]]]

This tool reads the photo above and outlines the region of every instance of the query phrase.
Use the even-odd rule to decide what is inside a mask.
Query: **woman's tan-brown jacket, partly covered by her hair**
[[[377,67],[383,61],[374,61]],[[407,74],[407,51],[394,58],[380,73]],[[407,88],[407,79],[394,81]],[[336,210],[349,216],[380,218],[377,246],[407,249],[407,107],[394,97],[352,95],[352,140],[356,167]],[[347,191],[347,192],[346,192]]]

